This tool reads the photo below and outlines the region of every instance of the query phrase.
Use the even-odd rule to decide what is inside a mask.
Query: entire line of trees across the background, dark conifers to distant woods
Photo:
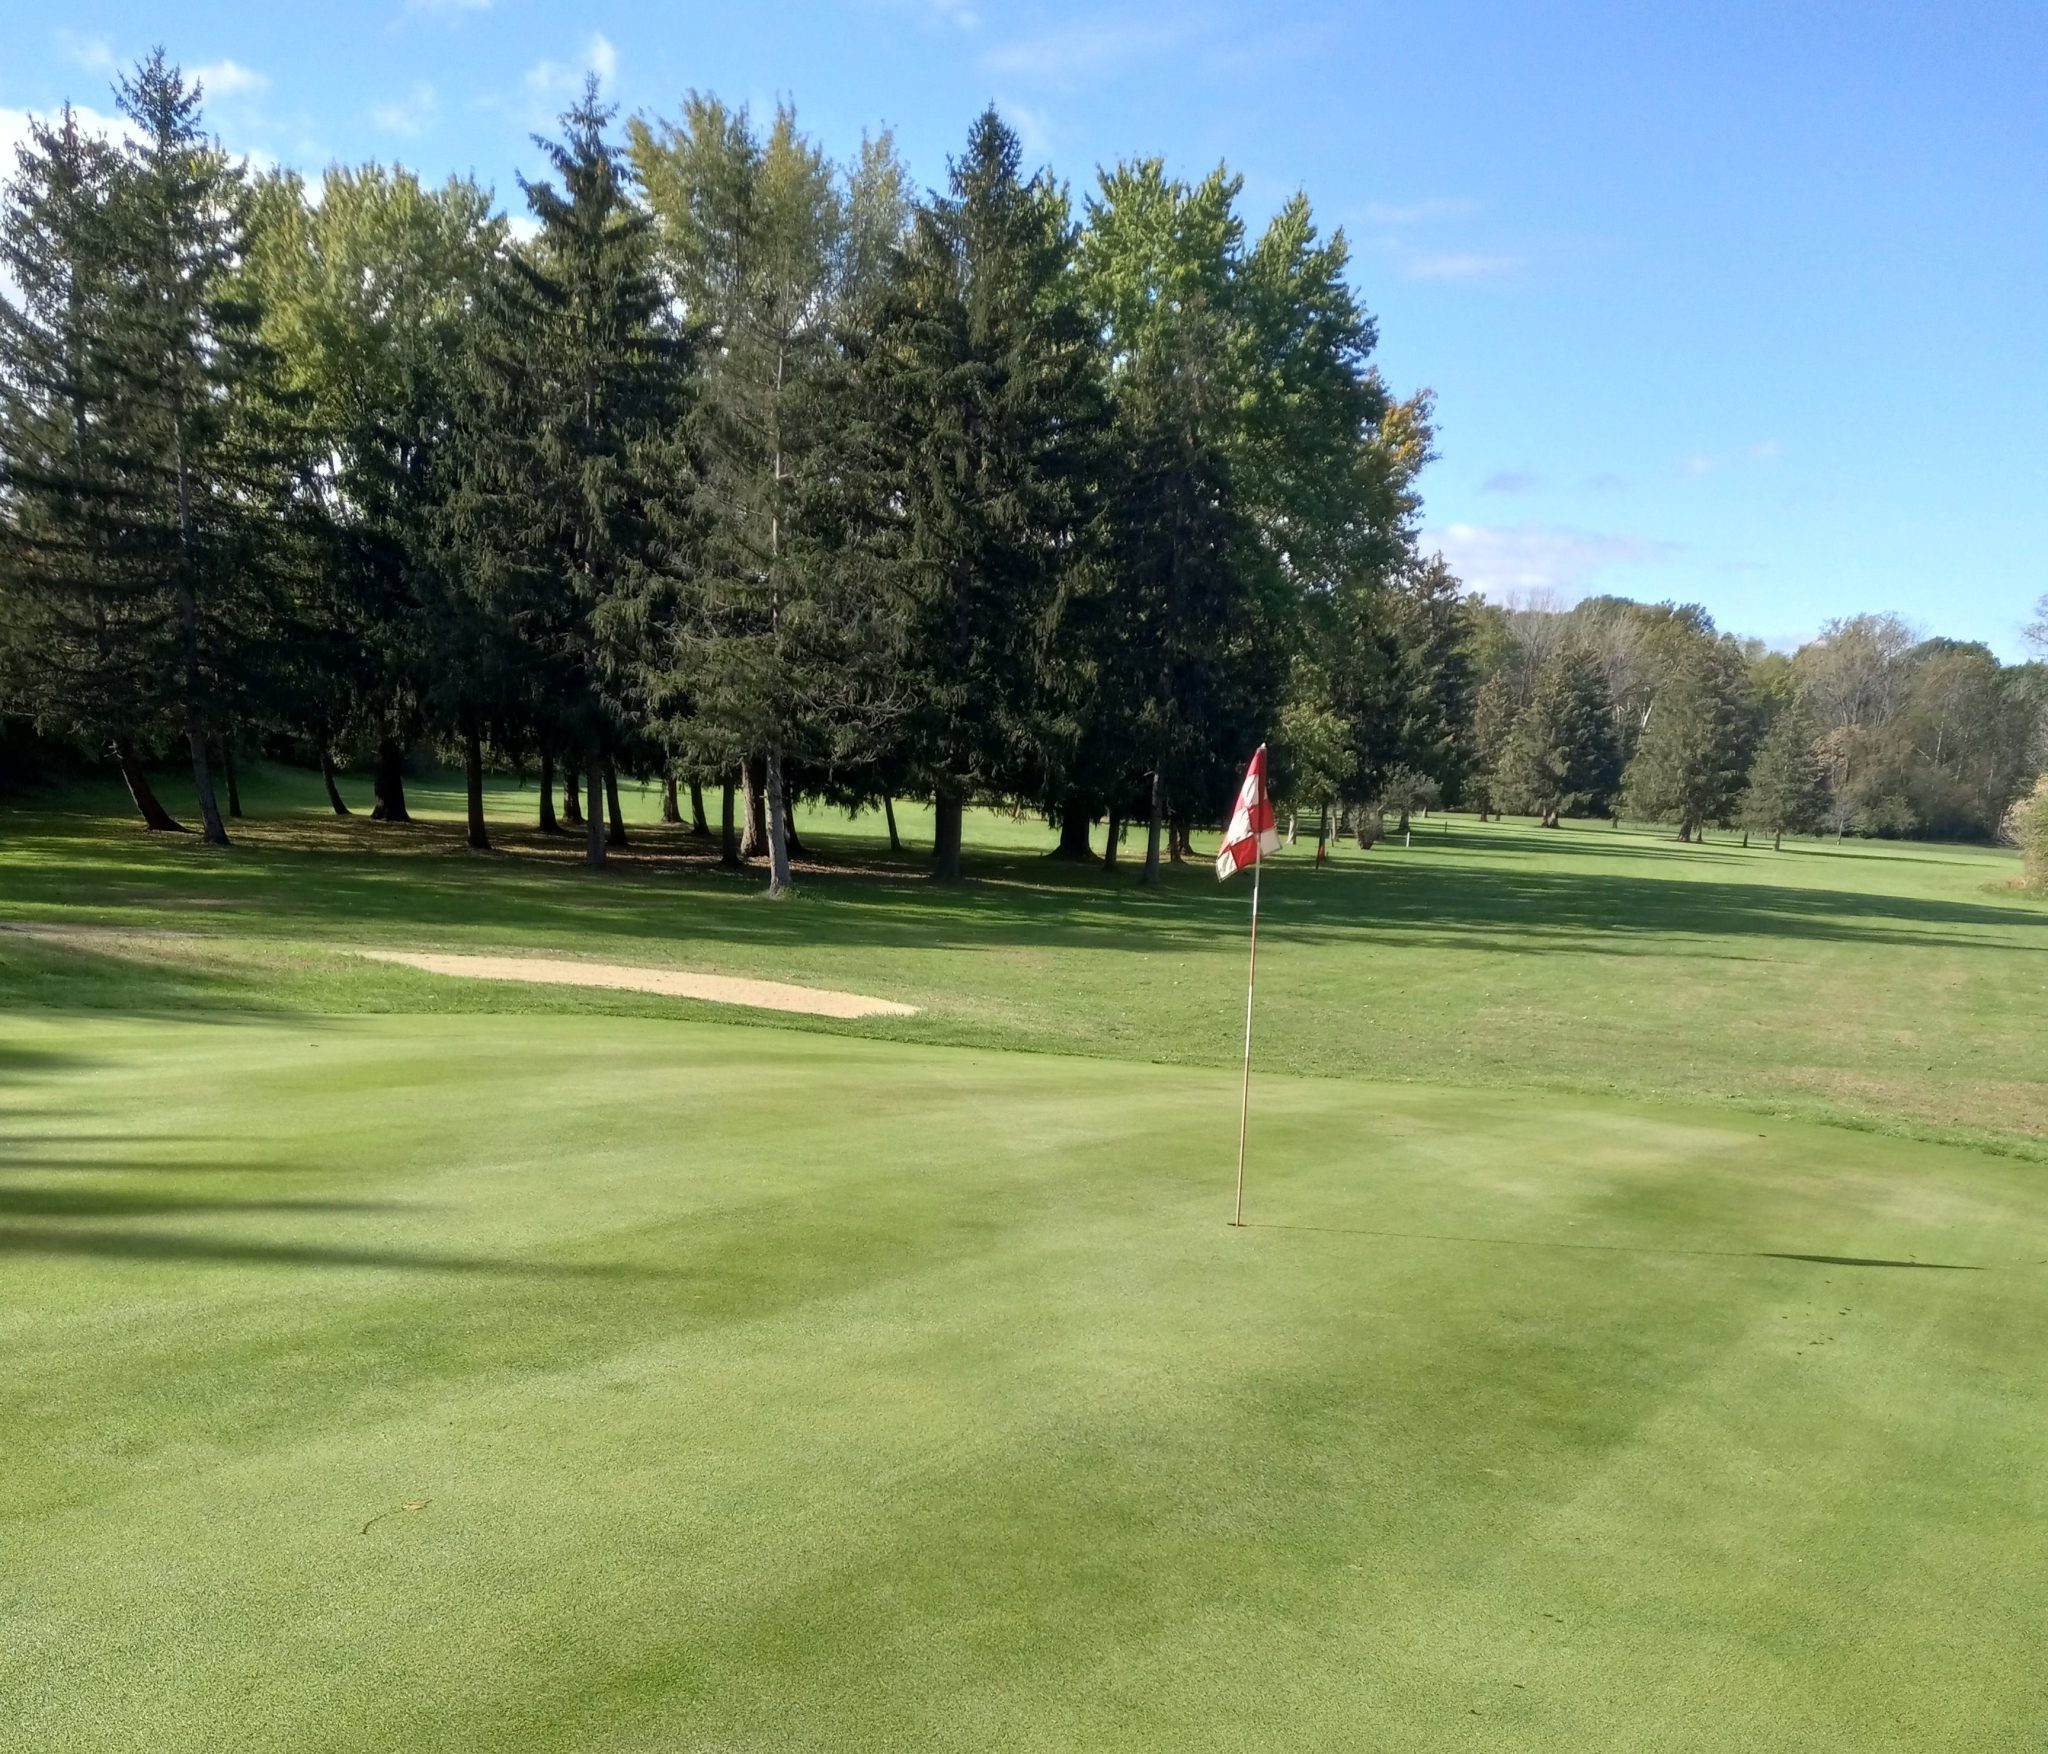
[[[119,105],[0,209],[0,750],[111,760],[152,830],[172,748],[215,842],[238,750],[344,816],[369,766],[379,822],[432,750],[477,848],[510,764],[592,865],[629,775],[772,893],[799,795],[934,799],[940,877],[969,801],[1110,865],[1130,824],[1157,881],[1260,742],[1309,813],[1679,838],[1991,836],[2048,766],[2048,664],[1896,617],[1784,656],[1466,594],[1305,195],[1253,236],[1227,168],[1137,160],[1075,205],[987,111],[920,197],[887,135],[692,92],[621,137],[592,82],[518,240],[461,178],[250,176],[162,53]]]

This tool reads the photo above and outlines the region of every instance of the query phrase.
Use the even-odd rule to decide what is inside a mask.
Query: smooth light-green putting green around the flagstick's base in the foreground
[[[1235,1100],[10,1016],[0,1746],[2048,1740],[2038,1164],[1264,1078],[1231,1231]]]

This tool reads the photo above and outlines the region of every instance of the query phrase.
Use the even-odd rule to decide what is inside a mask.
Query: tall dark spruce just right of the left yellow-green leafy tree
[[[520,180],[539,236],[492,275],[469,324],[434,518],[459,711],[524,703],[580,754],[592,865],[604,863],[604,772],[647,578],[674,555],[674,502],[688,492],[688,350],[655,275],[653,221],[606,139],[612,115],[592,80],[563,139],[537,139],[561,186]]]

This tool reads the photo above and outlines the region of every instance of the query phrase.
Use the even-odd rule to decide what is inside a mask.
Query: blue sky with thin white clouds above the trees
[[[1438,393],[1430,541],[1489,594],[2011,658],[2048,590],[2042,0],[16,6],[0,135],[162,41],[238,152],[514,203],[586,68],[629,111],[788,96],[842,154],[889,125],[920,182],[989,98],[1077,191],[1229,160],[1350,236],[1389,381]]]

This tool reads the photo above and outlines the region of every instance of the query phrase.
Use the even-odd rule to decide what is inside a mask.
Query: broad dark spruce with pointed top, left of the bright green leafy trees
[[[1061,191],[987,111],[913,221],[846,379],[848,559],[897,604],[903,760],[961,875],[969,793],[1030,789],[1047,613],[1085,525],[1094,338]]]

